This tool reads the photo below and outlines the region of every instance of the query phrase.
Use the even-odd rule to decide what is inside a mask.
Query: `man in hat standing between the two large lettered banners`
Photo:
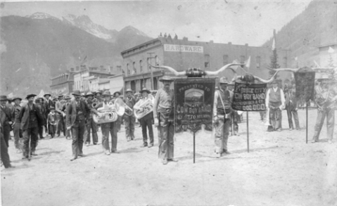
[[[227,89],[227,77],[221,77],[219,90],[215,91],[213,103],[213,122],[215,134],[215,155],[217,158],[221,155],[229,155],[227,141],[229,136],[229,127],[231,126],[231,103],[233,102],[233,93]]]

